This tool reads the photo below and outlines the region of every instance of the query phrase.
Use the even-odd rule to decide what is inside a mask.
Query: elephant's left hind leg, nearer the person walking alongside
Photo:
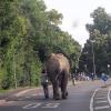
[[[53,99],[59,100],[60,99],[59,82],[56,81],[52,83],[52,85],[53,85]]]

